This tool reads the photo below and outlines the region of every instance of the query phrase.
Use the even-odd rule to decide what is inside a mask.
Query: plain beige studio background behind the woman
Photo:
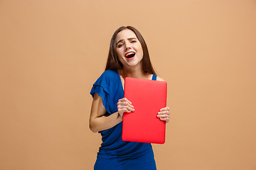
[[[256,1],[0,1],[0,169],[92,169],[92,84],[134,26],[168,85],[160,170],[256,169]]]

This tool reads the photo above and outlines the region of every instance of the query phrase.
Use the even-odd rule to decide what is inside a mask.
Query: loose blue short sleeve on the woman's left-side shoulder
[[[92,90],[90,94],[92,98],[94,97],[95,93],[98,94],[102,98],[103,106],[105,107],[108,114],[114,113],[115,109],[114,101],[112,97],[112,74],[111,72],[103,72],[102,75],[95,81],[92,86]]]

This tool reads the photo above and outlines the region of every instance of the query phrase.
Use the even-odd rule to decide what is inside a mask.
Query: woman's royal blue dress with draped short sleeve
[[[156,75],[153,74],[156,80]],[[117,70],[107,70],[92,86],[92,97],[97,93],[102,98],[107,115],[117,112],[117,102],[124,97],[122,82]],[[122,122],[99,132],[102,144],[97,153],[95,170],[156,170],[154,152],[150,143],[122,140]]]

